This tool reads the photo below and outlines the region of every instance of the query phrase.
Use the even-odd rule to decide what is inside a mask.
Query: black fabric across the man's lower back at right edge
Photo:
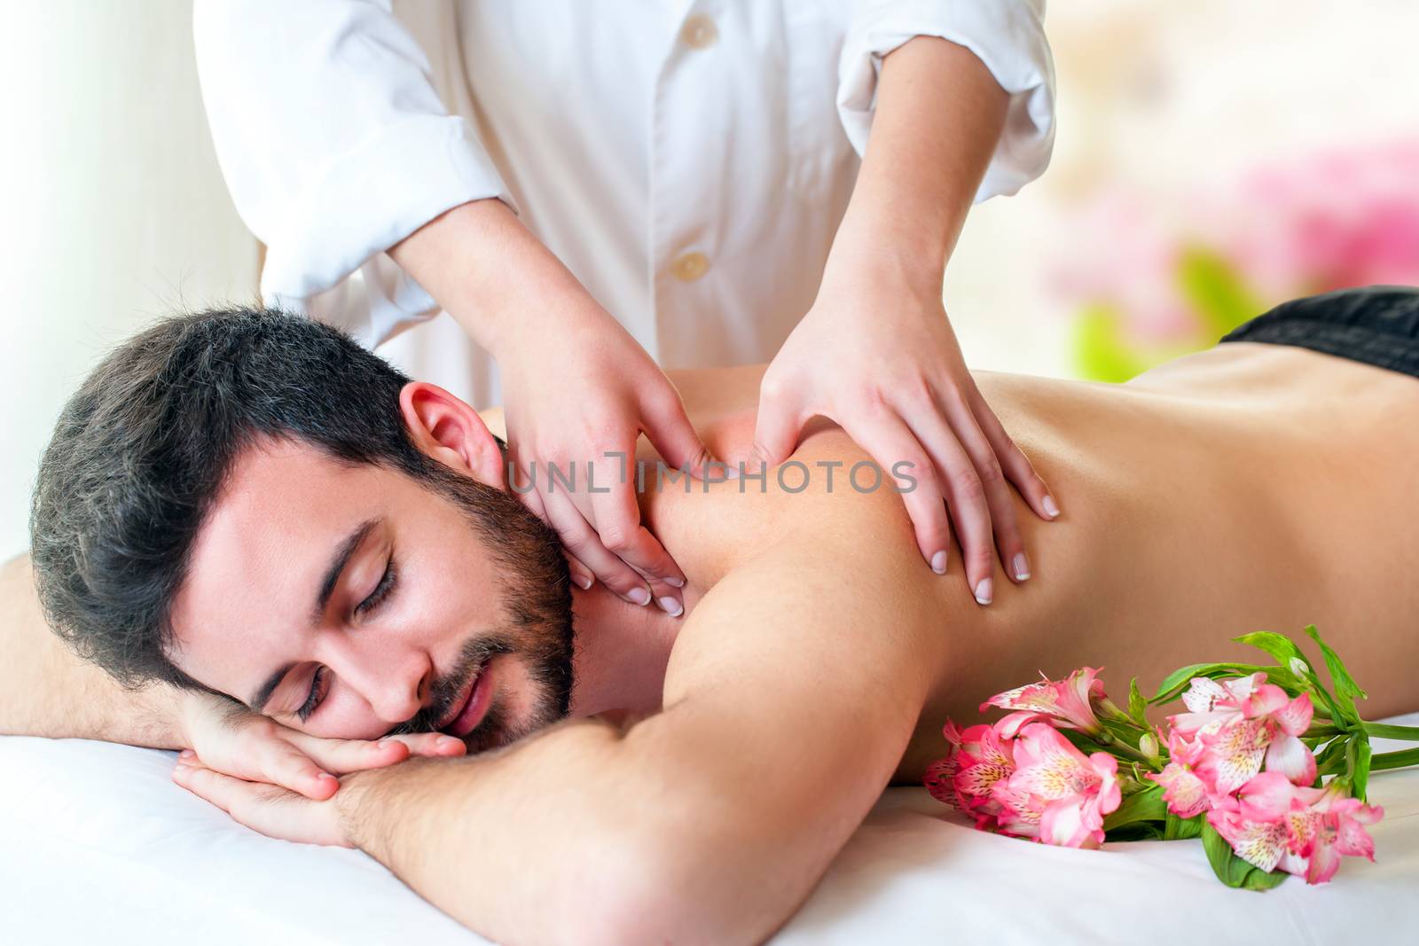
[[[1365,286],[1293,299],[1222,342],[1294,345],[1419,377],[1419,289]]]

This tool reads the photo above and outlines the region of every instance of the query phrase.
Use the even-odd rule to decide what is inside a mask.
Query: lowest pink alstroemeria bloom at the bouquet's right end
[[[1237,793],[1235,806],[1232,824],[1280,827],[1281,850],[1274,851],[1273,827],[1266,831],[1267,847],[1260,859],[1287,874],[1304,877],[1307,884],[1325,884],[1335,877],[1342,855],[1374,861],[1375,841],[1365,825],[1385,817],[1384,808],[1349,797],[1334,781],[1324,789],[1298,787],[1280,772],[1263,772],[1252,779]],[[1222,827],[1213,827],[1242,859],[1261,867],[1243,854]]]

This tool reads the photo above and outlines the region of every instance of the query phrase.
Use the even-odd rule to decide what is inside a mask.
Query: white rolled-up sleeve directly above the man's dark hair
[[[221,172],[267,244],[265,298],[326,292],[458,204],[512,204],[389,0],[197,0],[193,35]]]

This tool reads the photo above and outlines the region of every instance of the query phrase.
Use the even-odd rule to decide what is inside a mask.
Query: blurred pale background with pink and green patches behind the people
[[[65,397],[135,328],[255,296],[187,0],[0,0],[0,557]],[[1056,0],[1046,176],[978,207],[946,306],[978,369],[1125,380],[1284,298],[1419,284],[1413,0]],[[272,146],[278,146],[272,143]],[[446,319],[390,355],[458,391]]]

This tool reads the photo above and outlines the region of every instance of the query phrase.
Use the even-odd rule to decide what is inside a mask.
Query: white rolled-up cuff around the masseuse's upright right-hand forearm
[[[971,50],[1010,95],[1005,130],[976,203],[1013,194],[1049,166],[1054,148],[1054,62],[1044,0],[863,0],[839,61],[837,112],[853,148],[867,148],[884,55],[934,35]]]

